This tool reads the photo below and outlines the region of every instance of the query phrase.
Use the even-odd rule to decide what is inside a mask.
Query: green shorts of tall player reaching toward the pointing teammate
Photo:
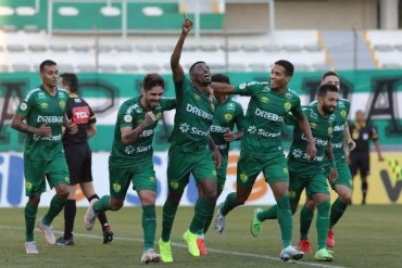
[[[260,173],[271,186],[277,182],[289,182],[288,165],[285,155],[261,157],[247,152],[240,152],[237,161],[237,184],[252,188]]]

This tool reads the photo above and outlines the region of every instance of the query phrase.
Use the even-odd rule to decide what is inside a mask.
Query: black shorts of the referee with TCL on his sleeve
[[[70,171],[70,184],[92,181],[92,155],[88,143],[64,146]]]

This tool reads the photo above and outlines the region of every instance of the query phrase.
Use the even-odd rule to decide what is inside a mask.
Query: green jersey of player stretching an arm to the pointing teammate
[[[240,84],[235,91],[251,97],[244,116],[241,150],[263,157],[284,155],[280,135],[285,117],[289,112],[298,118],[303,116],[300,97],[290,89],[278,94],[267,81]]]

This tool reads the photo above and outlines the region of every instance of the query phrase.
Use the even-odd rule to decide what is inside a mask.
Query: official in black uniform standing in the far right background
[[[359,110],[355,114],[354,124],[351,125],[350,135],[356,142],[356,148],[349,154],[349,167],[354,178],[360,171],[360,178],[362,179],[362,205],[366,204],[369,175],[369,141],[374,142],[377,151],[378,161],[384,161],[381,154],[381,148],[378,142],[378,133],[375,127],[373,127],[365,118],[363,111]]]

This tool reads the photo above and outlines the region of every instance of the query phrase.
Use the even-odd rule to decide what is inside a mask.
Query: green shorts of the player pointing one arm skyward
[[[211,150],[183,152],[171,146],[167,162],[167,187],[169,191],[181,192],[189,182],[190,173],[199,183],[203,179],[216,180],[216,167]]]

